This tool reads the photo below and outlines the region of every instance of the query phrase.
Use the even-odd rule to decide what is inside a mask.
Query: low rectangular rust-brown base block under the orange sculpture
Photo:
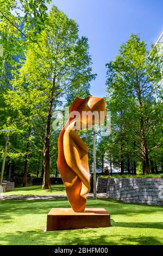
[[[71,208],[52,208],[47,215],[46,231],[110,226],[110,214],[104,208],[86,208],[84,212],[74,212]]]

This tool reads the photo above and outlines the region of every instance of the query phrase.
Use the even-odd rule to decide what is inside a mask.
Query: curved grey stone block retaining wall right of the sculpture
[[[162,178],[98,178],[97,192],[127,203],[163,205]]]

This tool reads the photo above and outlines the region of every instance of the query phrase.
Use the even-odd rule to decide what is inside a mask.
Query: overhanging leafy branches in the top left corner
[[[47,6],[51,0],[0,0],[0,19],[23,38],[35,41],[36,35],[46,27]],[[12,13],[15,12],[16,15]],[[23,22],[23,28],[19,25]]]

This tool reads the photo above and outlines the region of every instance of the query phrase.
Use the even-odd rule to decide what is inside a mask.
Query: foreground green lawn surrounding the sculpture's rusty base
[[[162,245],[162,206],[88,199],[88,208],[105,208],[112,227],[43,232],[51,208],[70,207],[66,199],[0,202],[1,245]]]

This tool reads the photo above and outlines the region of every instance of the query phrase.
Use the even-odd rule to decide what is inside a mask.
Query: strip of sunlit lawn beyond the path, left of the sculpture
[[[52,194],[66,194],[65,187],[63,184],[52,185],[52,190],[42,190],[41,185],[29,186],[29,187],[18,187],[14,190],[4,192],[4,196],[43,196]]]

